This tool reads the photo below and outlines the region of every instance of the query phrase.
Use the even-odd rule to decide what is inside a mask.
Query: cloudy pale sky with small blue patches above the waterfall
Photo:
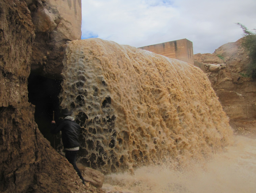
[[[82,39],[134,47],[186,38],[213,53],[242,37],[237,22],[256,32],[256,0],[82,0]]]

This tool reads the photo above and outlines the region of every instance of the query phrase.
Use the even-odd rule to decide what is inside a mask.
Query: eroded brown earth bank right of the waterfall
[[[242,40],[226,43],[213,54],[194,55],[194,65],[207,73],[233,129],[237,133],[255,134],[256,82],[246,75],[250,61]],[[213,65],[220,67],[211,70]]]

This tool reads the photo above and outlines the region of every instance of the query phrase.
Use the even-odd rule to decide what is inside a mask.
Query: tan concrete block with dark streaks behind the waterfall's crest
[[[179,39],[139,48],[194,65],[193,42],[187,39]]]

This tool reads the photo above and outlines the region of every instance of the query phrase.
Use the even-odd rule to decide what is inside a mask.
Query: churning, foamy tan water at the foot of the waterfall
[[[166,166],[145,166],[129,173],[106,176],[106,192],[216,193],[256,189],[256,139],[236,136],[233,146],[215,154],[208,162],[190,163],[186,171]]]

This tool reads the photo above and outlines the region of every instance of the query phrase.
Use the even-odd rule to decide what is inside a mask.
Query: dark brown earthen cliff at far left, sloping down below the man
[[[102,192],[82,185],[72,165],[50,146],[34,121],[27,80],[35,26],[27,3],[1,0],[0,20],[0,191]],[[47,28],[47,22],[44,25]]]

